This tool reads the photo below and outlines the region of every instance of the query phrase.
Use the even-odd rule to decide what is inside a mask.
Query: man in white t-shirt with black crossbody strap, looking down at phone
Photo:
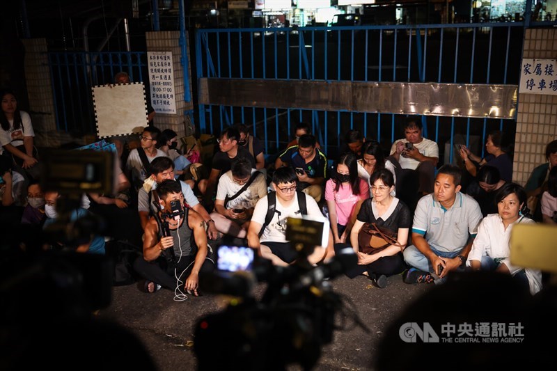
[[[217,230],[224,235],[245,239],[253,209],[265,196],[265,175],[252,168],[248,159],[234,161],[232,169],[219,178],[217,199],[211,214]]]

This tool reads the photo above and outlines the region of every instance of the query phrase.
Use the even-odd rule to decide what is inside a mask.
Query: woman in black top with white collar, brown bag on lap
[[[373,198],[365,200],[361,206],[358,218],[352,232],[350,242],[358,255],[358,266],[347,273],[354,278],[359,274],[368,276],[377,287],[386,286],[386,276],[399,274],[406,269],[402,250],[408,242],[409,229],[412,225],[412,215],[408,207],[398,198],[391,196],[395,187],[393,173],[381,169],[370,177],[371,193]],[[358,236],[364,223],[375,223],[396,233],[400,246],[390,245],[382,251],[373,254],[361,253]]]

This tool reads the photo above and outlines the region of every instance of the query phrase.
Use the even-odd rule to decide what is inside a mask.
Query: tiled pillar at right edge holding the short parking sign
[[[527,29],[523,58],[557,58],[557,29]],[[547,162],[547,143],[557,139],[557,95],[521,94],[518,100],[512,180],[524,185],[533,169]]]

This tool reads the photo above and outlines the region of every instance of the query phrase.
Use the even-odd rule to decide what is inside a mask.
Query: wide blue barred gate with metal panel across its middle
[[[518,84],[523,34],[521,22],[198,30],[196,72],[198,78]],[[402,135],[396,124],[404,120],[395,113],[203,104],[199,115],[202,132],[253,125],[267,154],[290,141],[295,123],[306,121],[329,157],[352,128],[387,148]],[[440,147],[450,143],[450,161],[455,134],[466,136],[466,143],[480,136],[484,143],[494,129],[515,130],[513,120],[490,118],[424,116],[423,123],[425,136]]]

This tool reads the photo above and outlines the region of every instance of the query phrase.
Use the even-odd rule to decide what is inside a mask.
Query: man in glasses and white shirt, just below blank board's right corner
[[[141,133],[140,148],[134,148],[130,152],[130,156],[127,157],[126,175],[128,175],[127,178],[132,181],[132,185],[136,191],[139,191],[147,177],[146,168],[143,166],[143,161],[141,161],[138,151],[143,150],[145,152],[149,163],[157,157],[166,157],[166,153],[162,152],[162,150],[158,150],[155,146],[159,134],[161,134],[161,131],[156,127],[146,127],[143,133]]]

